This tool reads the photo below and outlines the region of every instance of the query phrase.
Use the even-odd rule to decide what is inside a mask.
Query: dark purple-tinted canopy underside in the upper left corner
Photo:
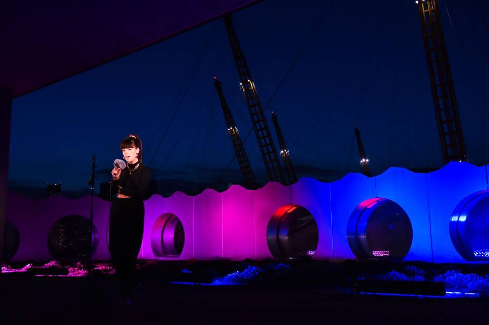
[[[0,87],[22,96],[254,2],[5,1]]]

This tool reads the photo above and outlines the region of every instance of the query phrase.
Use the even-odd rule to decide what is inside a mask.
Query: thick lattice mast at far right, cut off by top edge
[[[426,62],[443,158],[445,164],[452,161],[465,162],[467,153],[437,1],[419,0],[416,3],[420,10]]]

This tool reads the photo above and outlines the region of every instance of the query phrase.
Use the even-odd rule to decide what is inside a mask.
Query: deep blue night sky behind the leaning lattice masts
[[[489,3],[439,0],[469,163],[489,162]],[[374,175],[443,164],[414,0],[267,0],[234,26],[298,177],[360,172],[354,126]],[[212,77],[218,76],[259,183],[267,182],[222,20],[214,20],[13,101],[9,191],[89,193],[110,179],[119,143],[143,141],[159,192],[242,183]]]

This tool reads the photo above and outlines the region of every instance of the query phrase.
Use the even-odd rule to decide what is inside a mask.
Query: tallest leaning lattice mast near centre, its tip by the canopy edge
[[[228,14],[224,16],[224,23],[229,36],[229,43],[231,45],[234,61],[236,63],[236,69],[238,70],[241,89],[243,90],[249,115],[251,117],[251,123],[253,124],[253,128],[255,130],[255,135],[262,153],[265,168],[267,169],[268,179],[270,181],[285,183],[284,173],[282,171],[282,167],[280,166],[277,151],[275,150],[275,145],[273,144],[273,140],[270,135],[268,123],[263,113],[262,104],[258,98],[255,83],[249,72],[248,64],[246,63],[241,45],[234,30],[231,15]]]

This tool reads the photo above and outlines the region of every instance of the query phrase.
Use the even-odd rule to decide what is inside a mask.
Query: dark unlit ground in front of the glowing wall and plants
[[[489,317],[489,300],[358,295],[344,283],[247,286],[169,284],[141,273],[133,305],[120,307],[116,279],[1,274],[2,319],[52,324],[470,324]],[[97,292],[98,290],[98,292]],[[88,297],[88,299],[87,299]],[[88,303],[87,303],[88,302]],[[3,323],[2,324],[12,324]]]

